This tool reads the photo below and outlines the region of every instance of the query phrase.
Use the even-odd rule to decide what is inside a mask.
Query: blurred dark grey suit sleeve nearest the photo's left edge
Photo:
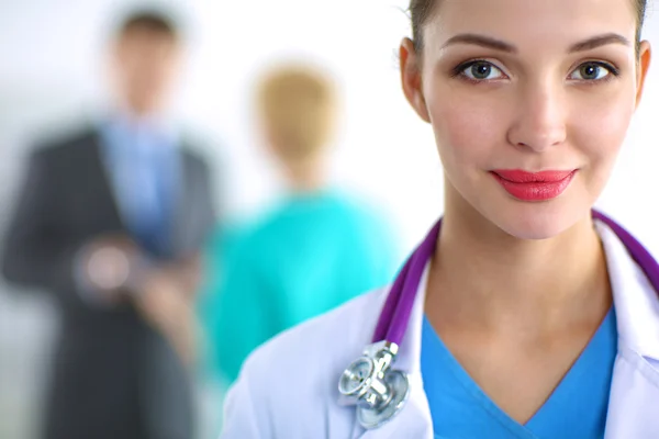
[[[78,246],[58,226],[58,182],[52,173],[46,154],[34,153],[7,230],[2,273],[24,286],[71,292]]]

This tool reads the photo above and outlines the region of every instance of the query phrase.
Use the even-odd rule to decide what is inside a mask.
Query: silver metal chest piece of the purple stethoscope
[[[390,370],[396,352],[394,344],[382,341],[370,345],[340,376],[338,391],[357,405],[357,419],[364,428],[382,426],[403,408],[407,399],[407,375]]]

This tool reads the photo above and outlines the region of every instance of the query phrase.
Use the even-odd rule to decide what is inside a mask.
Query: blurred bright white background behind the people
[[[103,36],[118,8],[131,3],[0,0],[0,226],[31,139],[93,113],[103,101]],[[440,212],[442,176],[432,133],[400,91],[395,52],[409,32],[404,0],[170,3],[186,10],[191,31],[177,110],[213,140],[205,151],[230,183],[219,193],[232,213],[260,210],[279,188],[250,124],[254,76],[270,60],[305,56],[342,79],[334,178],[379,202],[400,225],[405,248],[423,235]],[[659,41],[652,9],[646,34]],[[659,255],[656,67],[599,204]],[[0,437],[27,438],[34,423],[23,415],[34,407],[43,348],[56,327],[42,302],[10,292],[0,284]]]

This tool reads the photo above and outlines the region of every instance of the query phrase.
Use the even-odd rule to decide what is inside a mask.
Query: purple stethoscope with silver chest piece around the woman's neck
[[[656,291],[659,291],[659,264],[627,230],[604,214],[592,211],[594,219],[606,224],[627,248]],[[338,382],[344,401],[357,405],[357,418],[367,429],[378,428],[394,417],[410,393],[407,374],[391,369],[405,335],[423,271],[435,252],[442,219],[405,262],[380,313],[372,344],[353,361]]]

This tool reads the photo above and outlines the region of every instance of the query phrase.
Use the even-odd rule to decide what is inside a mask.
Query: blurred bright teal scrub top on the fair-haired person
[[[230,384],[264,341],[384,286],[401,260],[387,222],[337,191],[298,194],[252,227],[219,230],[200,303],[210,368]]]

